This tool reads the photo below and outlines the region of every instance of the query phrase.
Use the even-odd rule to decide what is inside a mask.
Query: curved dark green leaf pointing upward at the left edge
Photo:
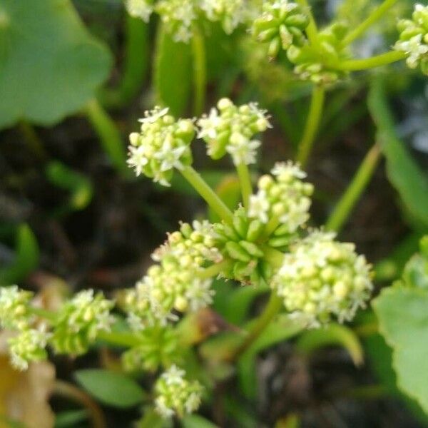
[[[16,234],[15,260],[0,269],[0,285],[23,280],[39,265],[39,245],[29,225],[23,223]]]

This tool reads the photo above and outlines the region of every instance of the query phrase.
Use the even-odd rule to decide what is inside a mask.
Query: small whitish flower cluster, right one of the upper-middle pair
[[[208,144],[208,156],[220,159],[227,152],[235,165],[255,163],[260,141],[253,136],[270,128],[266,111],[256,103],[235,106],[228,98],[220,99],[217,108],[198,120],[198,138]]]

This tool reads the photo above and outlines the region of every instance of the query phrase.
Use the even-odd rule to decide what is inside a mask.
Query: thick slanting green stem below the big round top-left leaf
[[[113,163],[119,173],[128,175],[126,150],[116,123],[113,122],[108,113],[103,110],[95,99],[86,105],[86,116],[88,116],[88,120],[98,134],[101,146],[106,151],[111,163]]]

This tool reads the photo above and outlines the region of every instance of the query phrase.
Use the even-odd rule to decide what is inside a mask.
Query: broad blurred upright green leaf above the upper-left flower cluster
[[[157,103],[183,115],[191,93],[192,53],[190,44],[175,43],[163,25],[158,26],[154,79]]]

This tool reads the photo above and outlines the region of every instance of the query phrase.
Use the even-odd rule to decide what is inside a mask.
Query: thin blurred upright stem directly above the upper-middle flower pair
[[[205,44],[203,34],[195,26],[192,38],[193,54],[193,114],[200,116],[205,106],[205,86],[207,80]]]

